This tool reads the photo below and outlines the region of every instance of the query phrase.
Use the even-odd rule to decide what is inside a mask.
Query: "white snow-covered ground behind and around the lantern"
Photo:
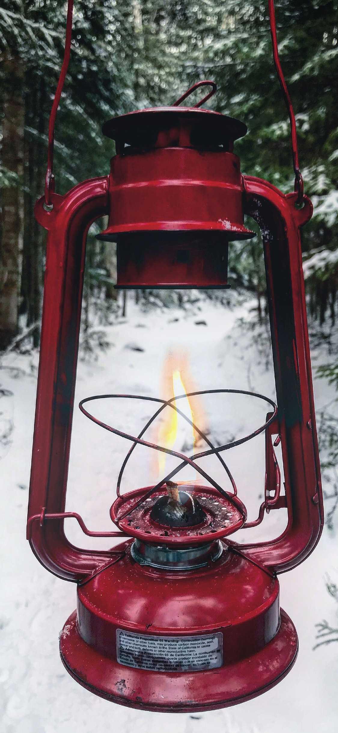
[[[106,328],[111,344],[108,351],[99,353],[94,363],[79,363],[75,403],[91,394],[114,392],[160,396],[163,362],[170,350],[184,351],[200,389],[244,388],[273,398],[274,380],[265,350],[236,323],[247,318],[250,304],[233,310],[209,302],[200,307],[200,312],[195,306],[188,312],[170,309],[145,314],[128,303],[127,318]],[[201,320],[206,324],[197,325]],[[338,581],[337,535],[326,528],[312,556],[279,577],[282,606],[296,624],[300,649],[288,677],[263,696],[228,710],[173,716],[111,704],[91,695],[67,674],[59,659],[58,636],[75,608],[75,586],[42,568],[25,539],[36,367],[37,355],[12,353],[0,369],[0,432],[10,433],[13,427],[8,440],[0,444],[1,732],[157,733],[160,729],[165,733],[175,726],[177,733],[209,733],[211,729],[222,733],[336,733],[338,644],[312,650],[315,624],[326,619],[337,625],[337,605],[324,582],[326,573]],[[315,380],[318,408],[334,396],[333,387]],[[95,414],[135,435],[151,414],[149,405],[106,401],[95,406]],[[262,424],[266,414],[266,405],[244,402],[244,398],[205,398],[203,406],[211,438],[219,441],[244,435],[253,424]],[[263,491],[263,444],[263,437],[256,438],[227,454],[239,495],[252,518]],[[75,408],[67,509],[80,512],[91,529],[111,527],[108,510],[127,447]],[[135,450],[124,489],[151,482],[151,459],[146,449]],[[203,465],[222,479],[217,461]],[[83,538],[75,524],[68,520],[70,539],[91,546],[93,541]],[[284,526],[285,510],[271,512],[262,526],[250,531],[250,539],[274,536]],[[102,547],[111,545],[105,540],[94,544],[99,546],[99,542]]]

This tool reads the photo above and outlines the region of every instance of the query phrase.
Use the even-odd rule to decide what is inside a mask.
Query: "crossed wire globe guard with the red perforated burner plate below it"
[[[263,400],[263,402],[267,402],[268,405],[271,405],[271,407],[274,408],[274,410],[273,412],[268,413],[268,415],[266,416],[266,421],[263,423],[263,425],[258,427],[257,430],[254,430],[253,432],[249,433],[249,435],[245,435],[243,438],[239,438],[236,441],[231,441],[230,443],[225,443],[225,445],[223,446],[215,447],[211,443],[208,436],[206,436],[197,425],[195,425],[184,413],[182,413],[176,404],[176,402],[179,402],[180,399],[200,394],[245,394],[249,397],[255,397]],[[149,402],[158,403],[160,407],[154,412],[151,418],[147,421],[146,425],[140,431],[139,435],[136,437],[122,432],[121,430],[117,430],[116,428],[97,419],[83,406],[88,402],[97,401],[100,399],[141,399]],[[227,449],[233,448],[234,446],[239,446],[251,440],[252,438],[255,438],[257,435],[260,435],[261,432],[265,431],[274,422],[277,416],[277,406],[271,399],[265,397],[262,394],[245,390],[211,389],[190,392],[187,395],[184,394],[175,396],[168,401],[155,397],[144,397],[135,394],[101,394],[95,395],[94,397],[86,397],[85,399],[82,399],[79,407],[81,412],[83,412],[83,414],[87,418],[89,418],[100,427],[103,427],[105,430],[113,432],[113,434],[119,435],[122,438],[126,438],[128,441],[132,441],[132,447],[129,449],[129,452],[127,453],[127,456],[122,463],[121,471],[119,473],[119,478],[117,482],[117,498],[116,501],[114,501],[112,507],[110,507],[110,518],[114,523],[116,523],[116,526],[118,526],[121,531],[131,535],[132,537],[137,537],[144,542],[161,542],[165,545],[187,545],[188,543],[200,544],[201,542],[208,542],[213,541],[214,539],[220,539],[221,537],[226,537],[228,534],[232,534],[237,529],[245,525],[247,520],[247,509],[244,506],[243,502],[237,496],[236,483],[233,479],[233,476],[230,474],[228,465],[226,465],[225,461],[223,460],[221,453]],[[195,454],[192,457],[187,457],[179,452],[173,451],[171,449],[164,449],[162,446],[157,446],[155,443],[149,443],[149,441],[145,441],[143,439],[144,433],[146,432],[146,430],[148,430],[154,420],[165,408],[172,408],[176,411],[176,413],[179,413],[179,415],[181,415],[181,417],[183,417],[184,420],[191,425],[191,427],[198,433],[198,435],[200,435],[200,438],[203,438],[203,440],[209,446],[209,449],[198,452],[198,454]],[[157,485],[138,489],[134,492],[128,493],[127,495],[121,495],[120,487],[124,468],[126,467],[127,461],[129,460],[129,457],[135,449],[135,446],[137,446],[138,444],[151,449],[155,449],[157,451],[164,450],[165,453],[181,459],[181,464],[173,469],[173,471],[170,471],[170,474],[168,474],[161,481],[159,481]],[[233,493],[228,493],[227,491],[225,491],[217,482],[214,481],[211,476],[209,476],[209,474],[206,474],[206,472],[203,471],[200,465],[195,463],[198,458],[211,454],[216,455],[217,459],[225,469],[225,472],[228,475],[228,479],[230,479],[231,485],[233,487]],[[212,487],[200,486],[197,484],[180,485],[181,488],[185,487],[188,493],[191,493],[192,491],[195,498],[198,498],[198,501],[200,501],[200,504],[202,504],[203,510],[206,514],[206,520],[202,523],[202,525],[195,526],[194,528],[184,527],[178,529],[170,527],[170,531],[168,531],[165,530],[165,528],[163,528],[162,526],[159,526],[159,524],[157,524],[153,520],[151,520],[151,509],[154,507],[154,502],[159,498],[159,496],[163,496],[163,493],[165,492],[165,482],[167,482],[168,479],[171,479],[173,476],[176,476],[176,474],[179,474],[181,468],[183,468],[184,465],[186,465],[187,463],[189,463],[189,465],[192,465],[199,474],[201,474],[205,479],[211,482]],[[262,507],[260,507],[260,514],[258,520],[255,520],[255,524],[258,524],[263,520]],[[252,526],[252,524],[249,526]]]

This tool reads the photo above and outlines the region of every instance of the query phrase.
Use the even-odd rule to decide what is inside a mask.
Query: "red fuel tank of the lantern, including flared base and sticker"
[[[279,615],[279,583],[238,549],[196,570],[120,558],[78,587],[78,616],[61,633],[72,677],[98,695],[146,710],[210,710],[276,684],[298,639]],[[271,661],[273,664],[271,664]]]

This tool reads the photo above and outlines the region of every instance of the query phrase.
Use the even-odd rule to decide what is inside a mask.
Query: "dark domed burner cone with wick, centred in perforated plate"
[[[151,509],[151,519],[165,527],[193,527],[206,520],[200,502],[187,491],[179,491],[172,481],[166,483],[168,495],[160,496]]]

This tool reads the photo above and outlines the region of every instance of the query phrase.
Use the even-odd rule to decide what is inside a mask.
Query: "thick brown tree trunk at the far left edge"
[[[4,57],[4,122],[2,165],[23,174],[23,65],[17,55]],[[18,185],[1,191],[0,349],[18,332],[20,271],[23,246],[23,194]]]

